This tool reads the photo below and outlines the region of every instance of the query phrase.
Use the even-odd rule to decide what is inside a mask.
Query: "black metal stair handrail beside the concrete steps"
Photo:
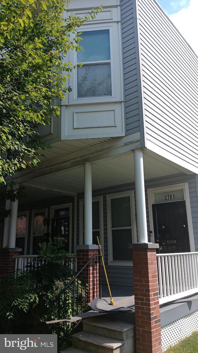
[[[80,269],[72,280],[57,294],[58,320],[85,312],[89,301],[89,275],[92,269],[92,291],[94,297],[101,298],[101,255],[94,255]],[[98,268],[97,268],[98,267]],[[95,270],[94,270],[95,269]],[[57,323],[58,349],[71,335],[73,326],[66,321]]]

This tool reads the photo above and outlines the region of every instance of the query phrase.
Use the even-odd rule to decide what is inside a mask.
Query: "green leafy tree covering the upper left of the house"
[[[85,17],[64,17],[69,1],[0,0],[0,183],[18,168],[36,166],[46,146],[37,131],[58,116],[75,68],[68,50],[80,50]],[[76,30],[77,29],[77,30]],[[28,137],[28,143],[25,143]]]

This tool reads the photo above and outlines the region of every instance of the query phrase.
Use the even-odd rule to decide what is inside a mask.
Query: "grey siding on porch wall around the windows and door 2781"
[[[147,189],[159,186],[174,185],[179,183],[187,183],[189,187],[190,203],[191,203],[191,214],[193,223],[193,233],[195,250],[198,251],[198,198],[197,198],[197,188],[196,179],[194,175],[187,176],[185,174],[171,175],[169,177],[150,179],[145,181],[145,191],[146,191],[146,210],[147,210],[147,228],[148,237],[149,233],[149,215],[148,215],[148,197]],[[114,186],[111,188],[106,188],[103,190],[93,191],[94,196],[103,195],[103,218],[104,218],[104,260],[106,265],[107,276],[110,284],[122,285],[122,286],[132,286],[133,285],[133,268],[129,266],[108,266],[108,241],[107,241],[107,209],[106,209],[106,195],[116,192],[123,192],[128,190],[134,190],[135,184],[124,184],[119,186]],[[78,195],[78,209],[79,209],[79,199],[83,198],[83,194]],[[79,241],[79,211],[77,214],[77,244]],[[105,283],[104,274],[102,275],[102,282]]]

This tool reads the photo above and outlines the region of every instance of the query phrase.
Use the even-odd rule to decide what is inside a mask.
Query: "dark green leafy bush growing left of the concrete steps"
[[[45,248],[40,245],[38,265],[29,265],[26,272],[10,275],[0,283],[0,333],[47,334],[57,333],[57,325],[45,321],[58,318],[56,296],[73,278],[74,273],[66,264],[66,251],[61,238]],[[80,283],[76,291],[84,293]],[[78,288],[78,289],[77,289]],[[65,300],[65,299],[64,299]],[[64,316],[71,315],[71,293],[66,296]]]

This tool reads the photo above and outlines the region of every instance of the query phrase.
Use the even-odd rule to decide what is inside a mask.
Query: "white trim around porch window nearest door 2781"
[[[137,232],[136,232],[136,217],[135,217],[135,197],[134,190],[118,192],[114,194],[109,194],[106,196],[107,203],[107,241],[108,241],[108,265],[111,266],[132,266],[133,262],[131,261],[113,261],[113,251],[112,251],[112,227],[111,227],[111,199],[120,198],[120,197],[130,197],[130,208],[131,208],[131,227],[122,227],[131,228],[132,243],[137,243]],[[116,228],[117,229],[117,228]],[[132,252],[131,252],[132,259]]]

